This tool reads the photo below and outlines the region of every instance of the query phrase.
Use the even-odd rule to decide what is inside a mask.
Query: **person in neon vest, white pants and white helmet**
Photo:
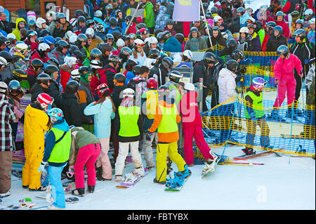
[[[123,176],[125,159],[131,147],[131,156],[135,170],[133,175],[144,176],[142,158],[138,152],[138,144],[140,133],[142,133],[142,122],[140,119],[140,107],[135,105],[135,91],[131,88],[126,88],[121,93],[123,100],[118,108],[119,117],[119,155],[115,162],[115,181],[120,181]]]

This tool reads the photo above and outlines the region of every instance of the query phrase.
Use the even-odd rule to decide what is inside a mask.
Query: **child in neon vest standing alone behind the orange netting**
[[[270,147],[270,129],[265,119],[265,112],[263,110],[263,95],[262,91],[267,81],[261,77],[254,78],[252,84],[246,90],[244,96],[244,112],[246,117],[247,135],[246,148],[243,150],[246,154],[256,153],[252,148],[254,145],[254,138],[256,136],[256,126],[261,128],[261,147]]]

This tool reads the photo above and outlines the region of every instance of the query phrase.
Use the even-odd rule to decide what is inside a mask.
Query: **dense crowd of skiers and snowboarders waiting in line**
[[[288,105],[298,101],[308,74],[306,103],[315,104],[315,6],[308,8],[301,0],[282,6],[282,1],[272,0],[253,11],[242,1],[202,2],[201,17],[194,22],[173,21],[173,1],[166,0],[85,0],[85,8],[69,21],[65,13],[49,11],[41,18],[29,11],[14,23],[0,6],[1,197],[11,194],[18,121],[24,125],[22,187],[46,190],[41,172],[48,165],[54,195],[50,209],[65,208],[62,173],[74,171],[72,194],[84,196],[84,169],[91,193],[96,179],[121,181],[129,150],[132,175],[143,176],[146,167],[156,166],[154,183],[165,184],[167,157],[178,166],[176,177],[190,175],[194,137],[206,159],[203,170],[213,169],[218,155],[204,140],[195,84],[203,78],[203,111],[223,104],[214,113],[231,117],[235,108],[230,99],[246,73],[240,65],[243,51],[281,55],[275,70],[278,98],[270,118],[282,119],[277,110],[286,92]],[[223,47],[218,53],[212,48],[216,44]],[[194,60],[194,51],[205,51],[202,60]],[[173,70],[174,62],[192,62],[191,82],[181,81],[183,74]],[[264,79],[254,79],[244,99],[247,129],[261,126],[261,146],[269,148],[264,85]],[[31,104],[23,112],[25,94]],[[289,107],[289,116],[296,115],[297,103],[295,110]],[[230,133],[220,131],[216,143],[232,140]],[[246,141],[244,152],[254,153],[251,131]],[[159,149],[156,162],[152,145]],[[182,145],[184,159],[178,154]]]

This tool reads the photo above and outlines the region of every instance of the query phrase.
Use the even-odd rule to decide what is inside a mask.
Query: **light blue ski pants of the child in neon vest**
[[[51,197],[54,199],[53,205],[58,208],[65,208],[65,192],[61,183],[61,172],[65,166],[48,166],[48,178],[51,181]]]

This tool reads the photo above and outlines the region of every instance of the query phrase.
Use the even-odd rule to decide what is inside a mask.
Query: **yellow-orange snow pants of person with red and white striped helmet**
[[[44,147],[25,145],[24,152],[25,164],[22,168],[22,185],[37,190],[41,187],[41,172],[38,169],[44,156]]]

